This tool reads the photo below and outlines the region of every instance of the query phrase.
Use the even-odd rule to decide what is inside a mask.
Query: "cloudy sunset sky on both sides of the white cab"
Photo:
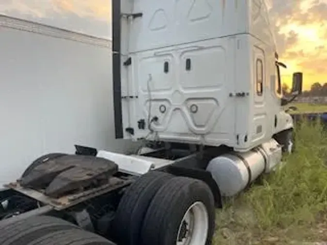
[[[327,82],[327,0],[268,0],[281,61],[304,73],[305,89]],[[110,0],[0,0],[0,13],[109,37]]]

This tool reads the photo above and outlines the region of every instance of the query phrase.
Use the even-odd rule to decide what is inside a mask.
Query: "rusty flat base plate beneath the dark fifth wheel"
[[[36,199],[42,203],[50,205],[55,210],[63,210],[69,207],[72,207],[78,203],[81,203],[85,200],[106,194],[110,191],[117,190],[123,188],[129,184],[131,184],[132,180],[123,180],[116,177],[112,177],[109,179],[108,184],[101,185],[99,187],[78,192],[75,194],[70,194],[66,196],[62,196],[60,198],[51,198],[45,195],[44,190],[33,190],[30,188],[25,188],[21,186],[18,182],[7,184],[6,187],[16,190],[28,197]]]

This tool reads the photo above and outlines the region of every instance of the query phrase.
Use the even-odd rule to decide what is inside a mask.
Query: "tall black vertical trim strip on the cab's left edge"
[[[121,91],[121,0],[111,1],[112,9],[112,89],[116,138],[123,138]]]

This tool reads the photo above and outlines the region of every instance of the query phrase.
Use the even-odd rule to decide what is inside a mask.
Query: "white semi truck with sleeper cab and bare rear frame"
[[[221,197],[293,151],[264,0],[113,0],[112,18],[116,138],[141,147],[36,159],[0,192],[3,245],[209,245]]]

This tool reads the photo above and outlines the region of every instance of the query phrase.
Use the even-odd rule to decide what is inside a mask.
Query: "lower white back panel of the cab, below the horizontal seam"
[[[228,76],[234,72],[229,65],[233,54],[234,39],[219,38],[131,55],[135,69],[130,87],[137,98],[128,101],[134,137],[148,135],[148,127],[142,129],[139,123],[148,126],[156,117],[151,128],[162,140],[209,144],[229,140],[234,134],[234,107],[229,106],[234,80]]]

